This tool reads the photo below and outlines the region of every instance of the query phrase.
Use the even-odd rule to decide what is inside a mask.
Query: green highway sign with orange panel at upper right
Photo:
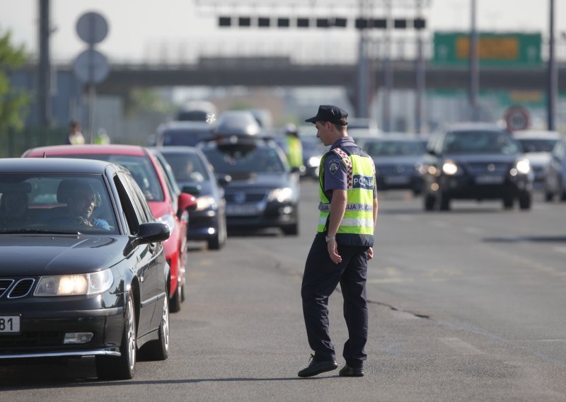
[[[480,66],[539,67],[541,45],[540,33],[478,33]],[[466,65],[469,59],[469,33],[434,33],[434,64]]]

